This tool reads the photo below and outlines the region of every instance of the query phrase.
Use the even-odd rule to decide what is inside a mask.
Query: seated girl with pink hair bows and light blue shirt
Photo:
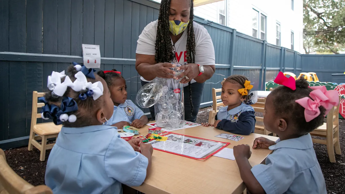
[[[275,82],[283,86],[266,98],[264,125],[279,139],[276,142],[264,137],[254,140],[253,149],[268,148],[274,152],[267,156],[266,164],[253,167],[248,162],[250,147],[234,147],[241,178],[250,193],[326,194],[309,132],[323,125],[325,115],[339,103],[338,93],[327,91],[325,86],[309,88],[303,78],[295,81],[282,72]]]

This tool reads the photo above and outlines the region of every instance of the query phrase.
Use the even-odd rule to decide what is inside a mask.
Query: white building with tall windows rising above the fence
[[[303,0],[194,0],[194,2],[195,16],[267,40],[270,44],[304,53]]]

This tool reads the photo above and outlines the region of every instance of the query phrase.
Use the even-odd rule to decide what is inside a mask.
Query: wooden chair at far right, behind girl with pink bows
[[[310,132],[310,134],[313,136],[326,137],[326,140],[313,138],[313,143],[327,145],[329,161],[335,163],[334,149],[336,154],[342,154],[339,142],[339,105],[333,107],[329,111],[326,123]]]

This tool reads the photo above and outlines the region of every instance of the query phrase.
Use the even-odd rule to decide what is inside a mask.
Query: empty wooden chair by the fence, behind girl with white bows
[[[32,146],[35,146],[39,151],[41,151],[40,161],[44,161],[46,157],[46,150],[53,148],[55,143],[47,145],[47,139],[56,138],[60,133],[62,125],[55,125],[51,123],[39,123],[37,124],[37,119],[42,118],[40,113],[37,113],[37,108],[44,106],[44,103],[37,103],[38,97],[43,97],[44,93],[38,93],[33,91],[32,94],[32,115],[31,115],[31,127],[30,127],[30,137],[28,150],[32,150]],[[42,140],[41,144],[37,140]]]

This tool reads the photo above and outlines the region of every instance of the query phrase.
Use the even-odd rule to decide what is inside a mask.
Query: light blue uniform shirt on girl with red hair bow
[[[114,113],[106,125],[113,125],[121,121],[127,121],[129,124],[132,124],[133,120],[140,119],[143,115],[144,112],[132,100],[126,100],[125,103],[114,106]]]

